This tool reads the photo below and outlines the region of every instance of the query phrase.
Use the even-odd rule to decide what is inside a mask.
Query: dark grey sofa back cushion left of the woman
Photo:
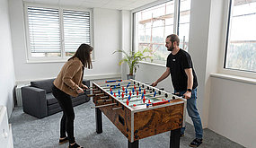
[[[43,89],[47,93],[49,93],[49,92],[51,92],[51,88],[53,86],[53,81],[54,81],[54,79],[31,82],[31,86]]]

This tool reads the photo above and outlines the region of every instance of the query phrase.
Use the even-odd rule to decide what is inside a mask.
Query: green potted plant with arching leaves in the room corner
[[[151,61],[153,60],[151,55],[151,51],[148,48],[145,48],[142,52],[141,51],[129,51],[126,52],[124,50],[117,50],[116,52],[120,52],[124,55],[124,57],[119,61],[119,65],[121,65],[123,62],[128,63],[129,67],[129,74],[128,79],[135,79],[135,73],[137,72],[137,68],[139,67],[138,62],[145,60],[146,58],[149,58]],[[148,53],[148,54],[146,54]]]

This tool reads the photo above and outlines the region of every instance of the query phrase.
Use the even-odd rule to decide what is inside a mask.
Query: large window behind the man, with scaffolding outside
[[[179,4],[181,3],[181,11]],[[180,47],[188,49],[190,30],[190,0],[172,0],[163,4],[154,5],[150,8],[138,11],[134,16],[134,49],[143,50],[148,48],[153,55],[153,62],[165,64],[170,54],[165,48],[165,39],[168,35],[179,35]],[[177,32],[178,16],[180,16],[180,31]],[[183,40],[184,39],[184,40]]]

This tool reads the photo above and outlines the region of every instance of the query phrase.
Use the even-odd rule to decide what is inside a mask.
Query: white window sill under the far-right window
[[[211,77],[222,78],[226,80],[232,80],[240,83],[252,83],[256,84],[256,79],[246,78],[242,76],[235,76],[230,74],[210,74]]]

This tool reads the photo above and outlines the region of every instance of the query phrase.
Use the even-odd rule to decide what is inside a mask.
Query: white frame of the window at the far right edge
[[[228,74],[228,75],[234,75],[234,76],[240,76],[244,78],[251,78],[256,79],[256,73],[252,71],[245,71],[245,70],[238,70],[238,69],[231,69],[231,68],[225,68],[225,60],[226,60],[226,52],[227,48],[229,46],[229,39],[230,39],[230,25],[231,25],[231,15],[233,14],[234,9],[234,0],[228,0],[225,1],[225,12],[224,12],[224,27],[223,27],[223,42],[222,44],[222,52],[220,52],[220,59],[221,62],[219,62],[219,68],[218,73],[220,74]]]

